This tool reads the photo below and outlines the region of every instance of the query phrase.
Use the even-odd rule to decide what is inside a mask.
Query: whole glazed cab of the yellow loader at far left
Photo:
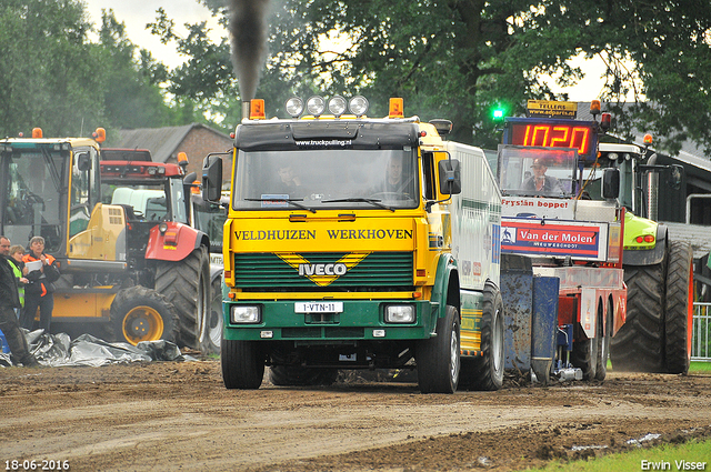
[[[99,147],[91,139],[0,141],[0,233],[26,244],[41,235],[58,259],[87,229],[99,202]]]

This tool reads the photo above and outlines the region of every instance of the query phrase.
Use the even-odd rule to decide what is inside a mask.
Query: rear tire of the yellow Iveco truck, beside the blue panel
[[[493,284],[484,287],[481,315],[481,356],[462,358],[459,388],[499,390],[503,384],[503,301]]]

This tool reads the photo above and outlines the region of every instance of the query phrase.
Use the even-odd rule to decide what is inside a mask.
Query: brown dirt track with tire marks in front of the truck
[[[228,391],[219,361],[0,369],[0,460],[72,471],[512,470],[711,436],[711,375],[423,395],[413,383]],[[592,446],[575,450],[574,446]],[[683,459],[683,458],[677,458]],[[22,469],[20,469],[22,470]]]

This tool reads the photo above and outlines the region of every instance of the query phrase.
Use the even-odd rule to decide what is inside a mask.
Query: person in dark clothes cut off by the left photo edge
[[[27,339],[20,330],[14,309],[20,307],[20,294],[14,271],[10,267],[10,240],[0,235],[0,331],[8,341],[14,362],[24,366],[38,366]]]

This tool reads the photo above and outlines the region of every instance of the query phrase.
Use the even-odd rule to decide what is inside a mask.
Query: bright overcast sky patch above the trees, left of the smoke
[[[156,10],[160,7],[166,10],[168,18],[176,22],[179,32],[184,32],[184,23],[208,21],[213,30],[213,39],[220,27],[211,19],[210,11],[198,3],[197,0],[83,0],[92,23],[97,29],[101,27],[101,9],[113,9],[116,19],[126,24],[126,33],[133,44],[151,51],[153,57],[164,64],[173,68],[181,64],[184,59],[176,52],[176,44],[161,44],[157,36],[146,29],[146,23],[156,20]]]

